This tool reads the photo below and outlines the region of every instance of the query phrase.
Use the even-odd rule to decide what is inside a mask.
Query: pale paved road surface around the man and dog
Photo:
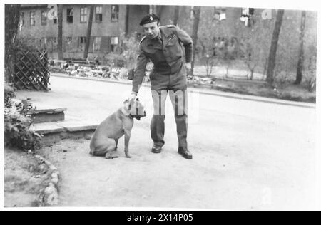
[[[130,93],[130,85],[52,77],[51,92],[23,91],[18,96],[28,96],[39,105],[66,107],[66,117],[101,121]],[[77,142],[65,159],[52,158],[64,177],[61,206],[315,207],[315,109],[189,95],[188,142],[194,158],[187,160],[176,153],[169,99],[164,151],[150,152],[149,89],[141,88],[139,98],[148,117],[134,125],[133,159],[89,157],[88,140]],[[73,142],[60,147],[64,145]]]

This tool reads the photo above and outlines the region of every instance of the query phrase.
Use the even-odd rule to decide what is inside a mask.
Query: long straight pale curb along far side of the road
[[[123,80],[106,80],[102,78],[82,78],[82,77],[71,77],[71,76],[66,76],[66,75],[60,75],[60,74],[51,74],[51,76],[58,77],[58,78],[69,78],[69,79],[77,79],[77,80],[92,80],[92,81],[100,81],[100,82],[106,82],[106,83],[118,83],[118,84],[123,84],[123,85],[132,85],[131,82],[123,81]],[[142,87],[151,87],[149,84],[142,84]],[[200,93],[202,95],[214,95],[214,96],[220,96],[220,97],[225,97],[225,98],[234,98],[234,99],[240,99],[240,100],[250,100],[250,101],[255,101],[255,102],[261,102],[261,103],[272,103],[272,104],[278,104],[278,105],[290,105],[290,106],[297,106],[297,107],[302,107],[302,108],[316,108],[315,103],[304,103],[304,102],[295,102],[295,101],[290,101],[290,100],[282,100],[282,99],[277,99],[277,98],[267,98],[267,97],[253,97],[251,95],[242,95],[242,94],[235,94],[235,93],[230,93],[226,94],[224,92],[222,93],[213,93],[210,91],[204,91],[200,90],[198,91],[198,88],[190,87],[193,88],[192,90],[188,90],[190,93]],[[218,91],[219,92],[219,91]]]

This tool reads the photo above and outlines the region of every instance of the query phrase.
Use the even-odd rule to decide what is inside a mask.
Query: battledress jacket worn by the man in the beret
[[[133,77],[133,93],[138,93],[149,60],[154,64],[153,73],[156,75],[182,75],[180,73],[186,75],[182,45],[185,48],[185,61],[189,63],[193,56],[192,38],[188,33],[173,25],[160,26],[160,31],[161,39],[144,37],[141,40]]]

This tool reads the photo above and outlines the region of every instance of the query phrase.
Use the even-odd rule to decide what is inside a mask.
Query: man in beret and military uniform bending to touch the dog
[[[146,64],[151,60],[154,64],[151,71],[151,91],[153,95],[154,115],[151,120],[151,138],[154,142],[153,153],[160,153],[165,144],[164,120],[165,100],[170,100],[175,110],[175,122],[178,135],[178,153],[186,159],[192,159],[188,151],[187,137],[187,70],[193,56],[192,38],[180,28],[168,25],[160,26],[155,14],[148,14],[141,19],[145,36],[140,43],[140,52],[133,77],[132,97],[136,98],[139,86],[145,76]],[[185,48],[185,62],[183,48]]]

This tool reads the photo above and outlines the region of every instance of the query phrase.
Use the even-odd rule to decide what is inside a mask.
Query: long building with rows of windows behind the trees
[[[90,5],[63,5],[64,58],[83,58],[89,8]],[[139,21],[143,15],[155,13],[161,18],[161,24],[173,24],[177,9],[179,16],[176,25],[191,34],[193,6],[95,5],[88,55],[94,58],[97,55],[119,53],[118,46],[122,33],[127,35],[136,33],[137,40],[141,39],[142,29]],[[49,19],[52,10],[51,6],[46,4],[21,5],[20,34],[35,38],[37,45],[46,46],[49,56],[57,58],[58,23],[56,19]],[[239,51],[241,38],[258,36],[256,39],[253,38],[254,41],[267,52],[275,16],[275,9],[202,6],[196,51],[203,56],[207,54],[215,56],[218,50],[228,47],[235,50],[236,57],[242,58],[243,53]],[[300,16],[300,11],[285,11],[282,23],[284,32],[280,33],[280,43],[284,42],[286,48],[293,49],[290,56],[296,55]],[[315,12],[308,12],[306,36],[312,37],[313,40],[307,40],[306,44],[316,41],[316,18]],[[202,42],[207,42],[207,45]]]

